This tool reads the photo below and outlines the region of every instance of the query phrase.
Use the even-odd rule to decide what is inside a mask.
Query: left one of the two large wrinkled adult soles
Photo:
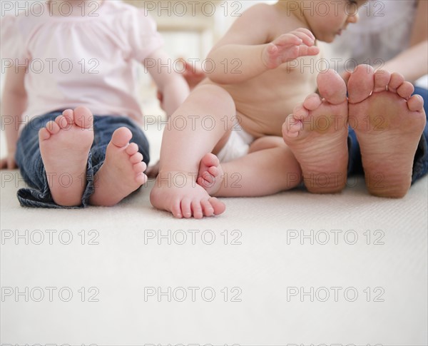
[[[307,190],[337,193],[347,179],[346,85],[335,71],[320,73],[317,94],[307,96],[282,126],[285,143],[300,163]]]

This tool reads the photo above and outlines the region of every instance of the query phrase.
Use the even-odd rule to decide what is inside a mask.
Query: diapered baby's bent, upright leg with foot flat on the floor
[[[225,205],[196,180],[201,159],[230,131],[235,115],[235,103],[223,88],[210,84],[195,88],[163,133],[159,174],[151,190],[154,207],[176,218],[202,218],[225,211]],[[206,118],[210,126],[205,125]],[[185,125],[178,128],[178,123]]]

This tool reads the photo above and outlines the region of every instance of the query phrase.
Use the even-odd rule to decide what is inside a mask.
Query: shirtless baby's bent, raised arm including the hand
[[[315,36],[307,29],[272,38],[276,19],[272,11],[272,6],[256,5],[235,21],[208,54],[215,63],[208,78],[222,84],[241,83],[299,56],[319,53]]]

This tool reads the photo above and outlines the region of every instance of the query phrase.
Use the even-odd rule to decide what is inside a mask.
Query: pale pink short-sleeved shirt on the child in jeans
[[[133,61],[143,62],[163,45],[153,19],[116,0],[103,1],[85,16],[53,16],[47,1],[38,4],[1,19],[2,68],[29,64],[24,121],[86,106],[95,115],[141,123]]]

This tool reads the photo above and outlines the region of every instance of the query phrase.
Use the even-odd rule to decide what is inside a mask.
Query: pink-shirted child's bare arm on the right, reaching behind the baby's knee
[[[163,66],[168,66],[168,61],[170,61],[169,56],[162,49],[154,51],[147,57],[147,61],[153,61],[152,59],[157,62],[156,66],[148,66],[147,64],[145,66],[155,81],[159,92],[163,95],[163,110],[169,117],[188,97],[189,86],[183,76],[173,71],[173,68],[169,72],[166,68],[159,68],[161,63]]]

